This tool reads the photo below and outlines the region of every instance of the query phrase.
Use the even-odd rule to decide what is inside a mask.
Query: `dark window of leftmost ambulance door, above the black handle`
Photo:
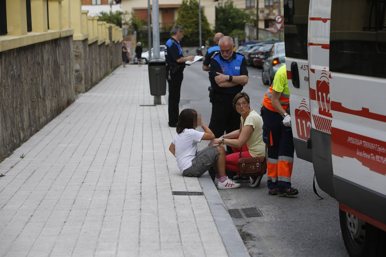
[[[308,59],[307,32],[310,0],[284,0],[286,57]]]

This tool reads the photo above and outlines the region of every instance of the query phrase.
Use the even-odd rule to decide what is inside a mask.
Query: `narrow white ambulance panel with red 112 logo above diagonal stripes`
[[[312,128],[310,147],[318,186],[334,197],[331,160],[330,111],[330,10],[331,0],[311,0],[308,17],[309,92]]]

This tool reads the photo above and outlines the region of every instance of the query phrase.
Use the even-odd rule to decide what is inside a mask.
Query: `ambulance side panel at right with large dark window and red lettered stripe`
[[[373,1],[332,0],[328,76],[335,198],[384,226],[385,8]]]

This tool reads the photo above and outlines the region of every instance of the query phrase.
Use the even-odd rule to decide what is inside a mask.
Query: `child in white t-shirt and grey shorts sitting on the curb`
[[[196,131],[198,124],[205,132]],[[179,171],[185,176],[199,177],[212,166],[217,174],[218,189],[240,187],[225,175],[225,148],[221,145],[207,146],[197,152],[197,143],[212,140],[215,135],[201,122],[200,114],[194,109],[184,109],[178,117],[177,134],[169,146],[169,151],[176,157]]]

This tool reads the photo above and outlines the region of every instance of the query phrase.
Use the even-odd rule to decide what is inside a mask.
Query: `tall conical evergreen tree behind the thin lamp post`
[[[196,46],[200,42],[198,27],[198,2],[197,0],[183,0],[178,9],[178,18],[176,25],[184,28],[184,38],[182,39],[185,46]],[[201,10],[201,38],[202,41],[213,37],[207,17]]]

